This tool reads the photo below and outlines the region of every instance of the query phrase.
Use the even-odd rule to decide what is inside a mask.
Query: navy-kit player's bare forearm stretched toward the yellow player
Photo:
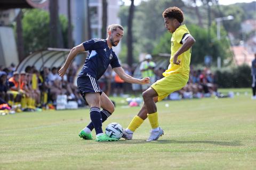
[[[128,82],[128,83],[136,83],[136,84],[148,84],[149,83],[149,78],[143,78],[143,79],[136,79],[131,77],[131,75],[126,74],[124,72],[124,69],[120,66],[120,67],[115,67],[114,71],[116,72],[116,74],[124,81]]]

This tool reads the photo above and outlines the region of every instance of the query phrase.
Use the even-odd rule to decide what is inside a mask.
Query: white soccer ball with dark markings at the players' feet
[[[124,131],[119,123],[110,123],[107,126],[105,133],[110,138],[121,139]]]

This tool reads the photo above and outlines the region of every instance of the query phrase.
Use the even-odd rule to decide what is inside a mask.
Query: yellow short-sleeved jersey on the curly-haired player
[[[178,56],[178,60],[180,60],[180,65],[173,64],[174,54],[180,49],[183,45],[183,41],[190,35],[186,25],[180,25],[172,34],[171,39],[171,58],[168,69],[163,73],[164,77],[170,74],[180,73],[185,75],[187,78],[189,77],[189,64],[191,57],[191,47],[186,52],[182,53]]]

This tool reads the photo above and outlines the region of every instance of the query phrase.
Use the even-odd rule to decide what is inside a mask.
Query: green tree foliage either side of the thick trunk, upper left
[[[36,50],[46,49],[50,43],[50,15],[38,9],[25,10],[22,19],[25,56]],[[61,31],[67,47],[68,21],[65,16],[60,16]]]

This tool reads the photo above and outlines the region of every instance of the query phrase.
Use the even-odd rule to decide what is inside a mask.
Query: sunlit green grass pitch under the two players
[[[82,140],[89,109],[0,116],[0,169],[256,169],[256,101],[250,89],[238,92],[233,99],[158,103],[165,134],[154,142],[145,141],[148,120],[131,141]],[[103,128],[126,128],[137,114],[139,107],[122,100]]]

